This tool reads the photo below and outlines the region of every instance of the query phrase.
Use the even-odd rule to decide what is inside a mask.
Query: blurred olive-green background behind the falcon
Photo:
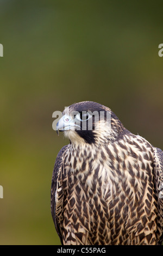
[[[1,245],[59,245],[55,157],[68,141],[52,113],[108,106],[163,149],[162,1],[0,0]]]

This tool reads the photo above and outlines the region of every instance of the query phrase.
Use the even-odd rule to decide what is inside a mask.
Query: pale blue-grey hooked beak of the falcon
[[[75,130],[76,126],[80,127],[69,115],[63,115],[57,123],[56,131],[59,136],[59,131]]]

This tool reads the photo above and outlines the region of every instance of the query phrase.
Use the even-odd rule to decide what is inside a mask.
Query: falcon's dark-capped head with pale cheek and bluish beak
[[[71,143],[106,143],[115,139],[124,127],[110,108],[93,101],[74,103],[65,108],[57,123],[57,133],[64,135]]]

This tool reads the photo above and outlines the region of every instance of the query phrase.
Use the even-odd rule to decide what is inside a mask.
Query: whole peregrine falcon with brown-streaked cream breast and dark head
[[[59,131],[70,139],[55,161],[51,187],[62,245],[160,245],[163,152],[92,101],[65,108]]]

